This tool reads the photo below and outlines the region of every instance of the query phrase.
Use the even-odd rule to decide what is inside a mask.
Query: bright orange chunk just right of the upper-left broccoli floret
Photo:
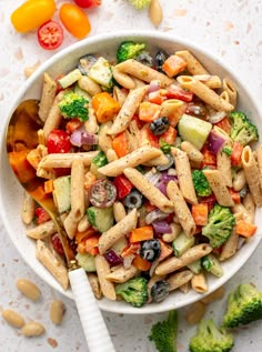
[[[92,107],[100,123],[112,120],[120,111],[120,103],[108,92],[97,93],[92,98]]]

